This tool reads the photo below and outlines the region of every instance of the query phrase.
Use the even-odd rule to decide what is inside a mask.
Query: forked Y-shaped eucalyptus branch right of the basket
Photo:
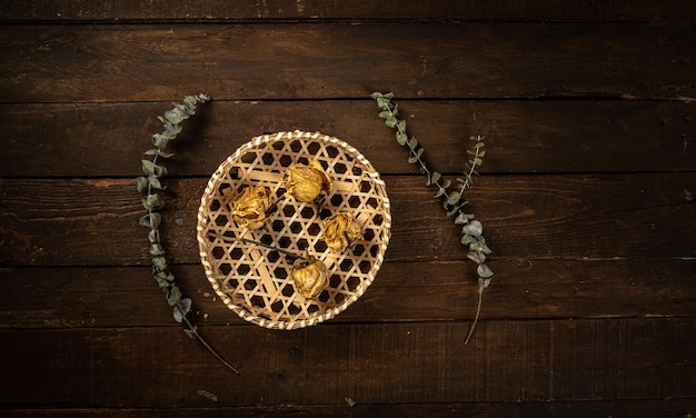
[[[471,158],[466,162],[467,170],[464,172],[464,178],[457,178],[458,188],[451,190],[451,180],[443,179],[440,172],[428,169],[422,159],[425,149],[420,146],[416,137],[409,137],[406,130],[406,120],[398,118],[398,104],[391,102],[394,93],[374,92],[370,97],[377,101],[377,106],[381,109],[379,117],[385,120],[385,125],[396,130],[397,142],[402,147],[408,147],[408,162],[418,165],[420,173],[426,176],[426,186],[437,188],[435,197],[443,199],[443,207],[447,211],[447,216],[451,217],[456,215],[455,223],[463,225],[461,243],[468,248],[467,258],[477,263],[476,273],[478,275],[478,303],[474,324],[464,342],[467,345],[478,324],[484,289],[488,287],[494,276],[493,270],[485,262],[491,251],[483,237],[484,228],[481,222],[475,220],[473,213],[466,213],[463,210],[468,203],[468,201],[464,200],[464,192],[474,183],[474,176],[478,175],[476,167],[479,167],[484,162],[483,158],[486,155],[484,137],[476,136],[470,138],[470,140],[476,142],[471,150],[467,150],[467,153],[469,153]]]

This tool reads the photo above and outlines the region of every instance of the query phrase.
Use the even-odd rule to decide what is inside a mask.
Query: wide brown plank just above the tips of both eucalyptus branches
[[[228,100],[381,89],[405,98],[696,96],[690,26],[4,24],[0,42],[6,103],[159,101],[200,90]]]

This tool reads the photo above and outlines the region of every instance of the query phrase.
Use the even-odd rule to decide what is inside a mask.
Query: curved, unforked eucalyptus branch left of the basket
[[[152,136],[152,145],[155,148],[145,152],[152,159],[142,159],[142,172],[145,176],[138,177],[138,191],[145,193],[142,197],[142,206],[148,213],[140,218],[139,223],[150,229],[148,240],[150,242],[150,255],[152,256],[152,277],[159,283],[160,289],[167,297],[167,302],[173,309],[173,318],[177,322],[183,324],[183,331],[191,338],[198,339],[208,351],[210,351],[227,368],[236,374],[239,371],[227,362],[198,332],[198,326],[191,322],[188,315],[191,311],[191,299],[183,298],[181,290],[175,282],[175,276],[169,269],[165,249],[160,239],[159,226],[162,216],[159,212],[165,207],[165,200],[155,190],[165,190],[160,179],[167,176],[168,171],[165,166],[158,162],[159,158],[171,158],[172,153],[165,152],[165,148],[169,141],[173,140],[181,132],[181,122],[196,113],[199,103],[206,103],[210,98],[203,93],[198,96],[187,96],[183,103],[172,103],[173,108],[165,112],[165,116],[158,117],[162,122],[165,130],[161,133]]]

